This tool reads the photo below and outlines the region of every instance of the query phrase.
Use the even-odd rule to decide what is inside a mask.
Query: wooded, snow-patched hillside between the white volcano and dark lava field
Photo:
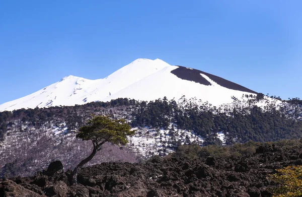
[[[260,99],[260,100],[259,100]],[[265,109],[255,106],[266,103]],[[20,109],[0,112],[0,176],[29,176],[54,160],[73,168],[91,152],[90,142],[76,140],[75,132],[92,114],[125,118],[137,129],[126,147],[107,144],[89,165],[109,161],[137,162],[167,155],[182,144],[232,145],[301,137],[301,101],[269,104],[266,97],[234,98],[221,108],[194,99],[177,103],[116,99],[85,105]],[[81,150],[81,151],[79,151]]]

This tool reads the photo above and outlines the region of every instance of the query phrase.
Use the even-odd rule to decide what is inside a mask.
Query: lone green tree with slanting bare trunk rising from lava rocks
[[[82,160],[72,172],[72,183],[77,183],[77,175],[79,170],[89,162],[97,151],[102,149],[105,142],[115,145],[126,145],[127,137],[134,135],[135,131],[131,130],[131,126],[124,119],[112,119],[108,116],[94,116],[86,125],[79,129],[77,138],[92,141],[93,151],[84,160]]]

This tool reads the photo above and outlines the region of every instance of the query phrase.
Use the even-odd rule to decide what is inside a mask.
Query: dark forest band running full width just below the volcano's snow
[[[204,145],[221,145],[217,133],[224,135],[225,144],[271,142],[281,139],[300,138],[302,134],[302,101],[298,98],[280,102],[269,101],[263,94],[243,95],[233,98],[231,104],[220,107],[196,99],[179,101],[158,99],[136,101],[119,98],[109,102],[91,102],[85,105],[57,106],[49,108],[19,109],[0,113],[0,140],[8,128],[16,122],[39,128],[45,123],[65,122],[67,131],[72,132],[91,117],[92,114],[107,114],[131,121],[133,127],[169,129],[173,136],[175,129],[185,129],[201,136]],[[272,100],[272,99],[271,99]],[[258,107],[261,101],[265,107]],[[173,125],[173,128],[171,128]]]

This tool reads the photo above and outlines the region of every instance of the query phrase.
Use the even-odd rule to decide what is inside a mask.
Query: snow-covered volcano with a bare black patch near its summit
[[[232,96],[257,94],[243,86],[161,59],[136,59],[104,79],[68,76],[33,94],[0,105],[0,111],[20,108],[85,104],[116,98],[155,100],[196,97],[213,105],[232,102]]]

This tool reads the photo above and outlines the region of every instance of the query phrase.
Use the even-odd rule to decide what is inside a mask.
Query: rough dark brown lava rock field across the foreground
[[[0,196],[271,196],[275,169],[302,165],[300,150],[259,147],[249,157],[160,158],[102,163],[80,171],[70,185],[61,162],[33,177],[0,180]]]

